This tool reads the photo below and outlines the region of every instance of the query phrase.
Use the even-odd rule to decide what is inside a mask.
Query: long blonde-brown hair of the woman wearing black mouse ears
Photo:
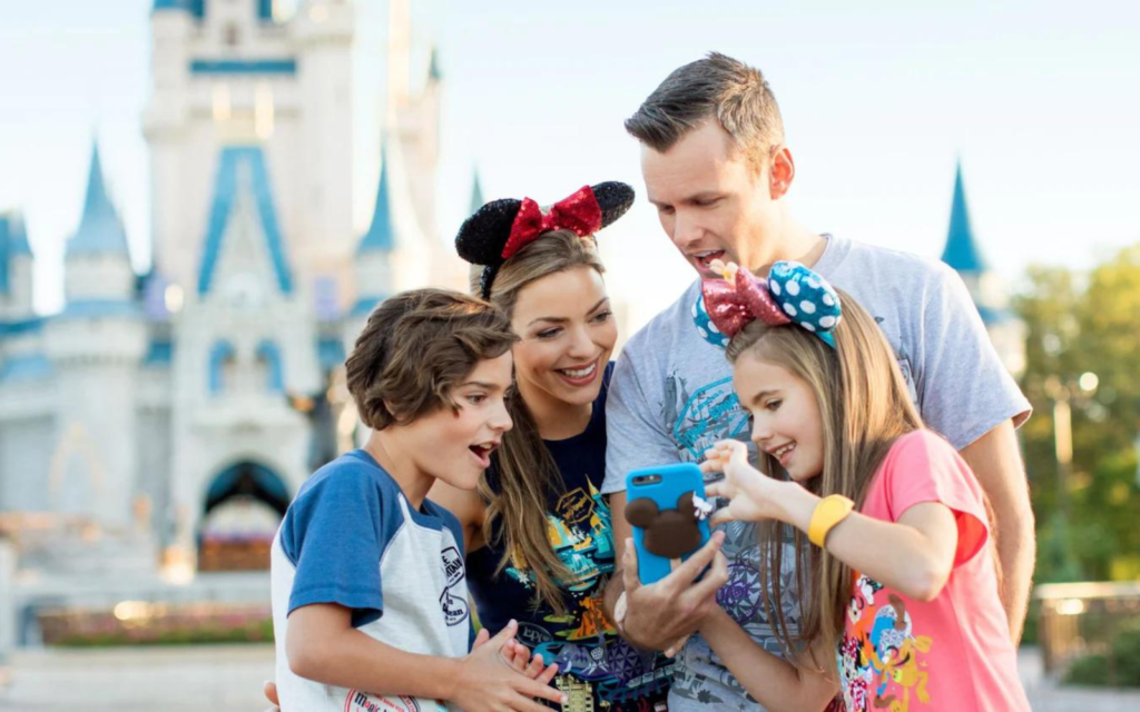
[[[588,268],[598,275],[605,270],[593,238],[579,238],[569,230],[545,232],[503,263],[491,285],[489,301],[513,318],[519,294],[531,283],[548,275]],[[481,269],[472,273],[472,292],[478,293]],[[538,425],[522,398],[510,403],[514,428],[503,436],[496,453],[498,490],[486,478],[479,491],[487,500],[483,535],[488,542],[504,545],[498,573],[510,564],[529,570],[535,578],[537,607],[546,603],[557,614],[565,612],[560,581],[569,571],[554,551],[547,534],[546,510],[552,494],[564,493],[565,484],[554,458],[538,433]],[[499,531],[496,522],[502,521]]]

